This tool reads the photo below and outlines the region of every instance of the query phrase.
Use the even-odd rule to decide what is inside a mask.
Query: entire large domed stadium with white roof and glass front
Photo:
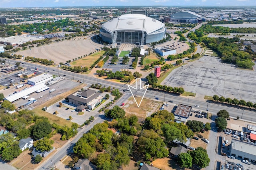
[[[100,37],[113,44],[143,45],[165,36],[164,23],[142,14],[125,14],[102,24]]]

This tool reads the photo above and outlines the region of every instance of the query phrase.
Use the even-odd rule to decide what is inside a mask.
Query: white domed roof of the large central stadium
[[[125,14],[102,25],[109,33],[114,31],[145,31],[150,34],[164,27],[164,23],[142,14]]]

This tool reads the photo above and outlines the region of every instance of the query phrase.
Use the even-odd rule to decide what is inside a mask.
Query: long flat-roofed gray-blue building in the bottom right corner
[[[256,161],[256,145],[232,139],[230,146],[230,155],[249,160],[250,162]]]

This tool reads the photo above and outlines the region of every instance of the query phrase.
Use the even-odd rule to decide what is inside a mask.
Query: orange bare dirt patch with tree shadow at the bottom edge
[[[171,158],[160,158],[153,161],[152,164],[161,170],[180,170],[177,162]]]

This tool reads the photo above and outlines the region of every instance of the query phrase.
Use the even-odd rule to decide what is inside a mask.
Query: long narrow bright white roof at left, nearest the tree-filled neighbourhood
[[[24,96],[27,96],[31,93],[36,92],[37,90],[45,88],[45,87],[46,87],[46,85],[44,85],[44,84],[37,84],[37,85],[31,86],[29,88],[26,88],[24,90],[21,90],[20,92],[14,93],[14,94],[4,98],[4,100],[8,100],[9,102],[14,102],[15,100],[18,100]]]

